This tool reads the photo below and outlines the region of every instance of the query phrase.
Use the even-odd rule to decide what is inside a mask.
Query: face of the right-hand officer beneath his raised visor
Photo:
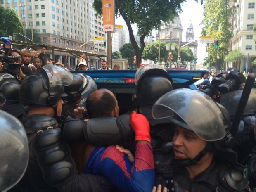
[[[173,136],[175,159],[194,159],[206,144],[207,141],[202,140],[193,131],[175,125],[175,134]]]

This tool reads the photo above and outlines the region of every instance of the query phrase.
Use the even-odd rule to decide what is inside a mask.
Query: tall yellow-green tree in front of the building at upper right
[[[224,62],[228,53],[232,31],[229,19],[232,15],[232,7],[229,7],[231,0],[204,0],[204,19],[202,21],[202,36],[214,36],[218,39],[218,49],[214,43],[206,46],[206,52],[213,58],[218,58],[218,69]]]

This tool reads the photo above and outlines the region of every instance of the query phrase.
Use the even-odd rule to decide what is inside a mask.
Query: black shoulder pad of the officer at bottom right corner
[[[220,178],[223,185],[228,184],[228,187],[232,190],[244,190],[247,188],[247,179],[243,177],[242,173],[234,166],[221,166],[225,168],[224,178]],[[227,185],[226,185],[227,186]]]

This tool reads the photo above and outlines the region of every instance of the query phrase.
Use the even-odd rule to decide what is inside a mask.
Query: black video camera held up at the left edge
[[[0,61],[4,66],[4,72],[19,72],[20,64],[15,64],[20,60],[19,55],[7,56],[3,49],[0,49]]]

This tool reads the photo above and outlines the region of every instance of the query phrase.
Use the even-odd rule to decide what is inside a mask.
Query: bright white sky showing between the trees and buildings
[[[193,28],[194,28],[194,39],[200,39],[201,36],[201,29],[202,26],[200,25],[201,19],[203,18],[203,6],[200,5],[200,3],[195,2],[195,0],[187,0],[187,2],[184,2],[182,6],[182,12],[179,14],[181,24],[183,26],[183,37],[182,41],[185,42],[186,38],[186,31],[187,27],[190,24],[190,20],[192,21]],[[123,28],[128,32],[127,26],[125,22],[123,21],[123,18],[116,19],[117,25],[123,25]],[[133,31],[135,33],[137,32],[136,26],[133,26]],[[156,31],[152,32],[153,36],[156,36]],[[206,44],[200,43],[198,41],[198,47],[197,47],[197,62],[203,62],[203,59],[207,57],[205,52],[205,46]]]

